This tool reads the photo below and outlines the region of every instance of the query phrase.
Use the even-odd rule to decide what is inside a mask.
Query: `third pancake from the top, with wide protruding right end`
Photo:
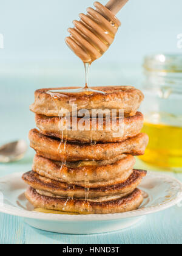
[[[39,156],[61,162],[107,160],[121,154],[143,155],[149,141],[145,133],[140,133],[121,143],[61,143],[61,140],[42,135],[36,129],[30,130],[29,139],[30,146]]]

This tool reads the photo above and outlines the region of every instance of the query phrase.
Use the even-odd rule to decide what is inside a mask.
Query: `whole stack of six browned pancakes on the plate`
[[[60,88],[54,88],[58,90]],[[65,89],[65,88],[64,88]],[[70,89],[70,88],[69,88]],[[49,93],[35,91],[30,106],[39,130],[30,130],[30,146],[36,155],[30,172],[22,179],[29,184],[25,192],[35,208],[75,214],[121,213],[135,210],[143,202],[140,184],[146,171],[134,169],[135,155],[143,155],[148,136],[140,133],[143,115],[137,112],[143,100],[133,87],[98,87],[103,93]],[[73,103],[77,105],[73,111]],[[62,109],[71,113],[69,129],[61,129]],[[103,130],[99,118],[88,120],[90,130],[73,130],[73,118],[81,120],[79,111],[123,110],[123,132],[115,137],[113,128]],[[120,123],[115,118],[113,126]]]

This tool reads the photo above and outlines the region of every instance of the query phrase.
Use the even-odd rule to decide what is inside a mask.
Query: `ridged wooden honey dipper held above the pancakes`
[[[73,21],[74,28],[68,29],[70,37],[66,43],[84,63],[91,64],[99,59],[112,44],[120,21],[116,18],[128,0],[110,0],[104,6],[95,2],[96,9],[89,7],[87,15],[81,13],[81,20]]]

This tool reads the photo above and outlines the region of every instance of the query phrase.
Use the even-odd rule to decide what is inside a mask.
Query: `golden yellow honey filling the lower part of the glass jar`
[[[182,168],[182,126],[144,123],[143,132],[150,140],[141,160],[162,168]]]

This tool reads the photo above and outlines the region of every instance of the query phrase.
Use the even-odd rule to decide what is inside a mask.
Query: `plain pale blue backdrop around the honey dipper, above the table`
[[[58,76],[59,85],[83,84],[83,64],[64,38],[72,21],[92,5],[93,0],[0,0],[0,33],[4,35],[0,75]],[[133,69],[135,76],[144,55],[182,53],[177,48],[181,10],[181,0],[130,0],[117,15],[122,26],[115,43],[92,66],[90,83],[135,84],[127,71]]]

